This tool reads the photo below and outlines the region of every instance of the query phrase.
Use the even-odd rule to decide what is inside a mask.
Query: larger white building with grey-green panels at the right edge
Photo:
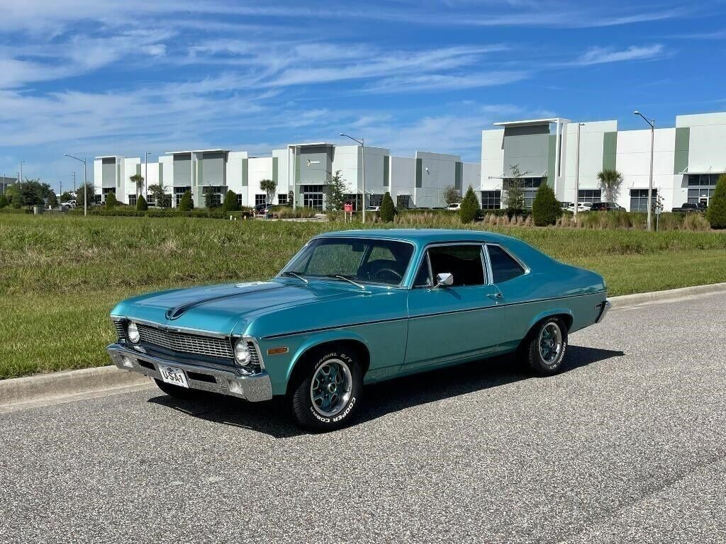
[[[494,125],[481,137],[483,207],[503,207],[502,186],[513,167],[524,174],[526,205],[542,183],[550,184],[563,202],[600,202],[597,173],[613,168],[624,178],[618,204],[631,211],[647,210],[647,125],[644,130],[619,131],[616,120],[579,123],[563,118]],[[666,211],[684,202],[707,205],[719,175],[726,172],[726,112],[679,115],[674,127],[656,128],[653,136],[653,198],[661,197]]]

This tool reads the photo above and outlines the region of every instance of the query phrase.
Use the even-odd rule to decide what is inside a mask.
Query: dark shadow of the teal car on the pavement
[[[570,345],[562,373],[622,355],[624,353],[621,351]],[[552,378],[556,377],[552,376]],[[525,379],[537,378],[523,368],[523,365],[512,355],[502,355],[372,384],[364,388],[365,403],[354,424],[372,421],[388,413],[398,412],[416,405],[466,395]],[[195,400],[180,400],[167,395],[159,395],[150,398],[148,402],[195,418],[250,429],[275,438],[289,438],[306,434],[290,420],[287,403],[282,398],[276,397],[264,403],[248,403],[234,397],[203,393]]]

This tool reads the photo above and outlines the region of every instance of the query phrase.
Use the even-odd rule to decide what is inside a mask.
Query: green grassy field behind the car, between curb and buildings
[[[108,313],[123,297],[267,279],[311,236],[345,227],[0,215],[0,378],[107,364],[104,347],[113,339]],[[726,281],[726,234],[489,230],[602,273],[613,295]]]

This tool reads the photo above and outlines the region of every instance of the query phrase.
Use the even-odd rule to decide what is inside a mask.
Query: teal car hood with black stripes
[[[144,294],[120,302],[113,308],[111,315],[230,334],[240,322],[251,321],[262,313],[310,302],[366,295],[370,293],[332,282],[298,285],[288,283],[287,279],[258,281]],[[244,330],[245,326],[241,329]]]

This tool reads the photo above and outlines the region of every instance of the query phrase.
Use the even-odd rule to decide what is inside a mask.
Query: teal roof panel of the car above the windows
[[[416,245],[435,242],[507,242],[511,240],[510,236],[503,234],[454,228],[367,228],[356,231],[326,232],[316,237],[404,240]]]

